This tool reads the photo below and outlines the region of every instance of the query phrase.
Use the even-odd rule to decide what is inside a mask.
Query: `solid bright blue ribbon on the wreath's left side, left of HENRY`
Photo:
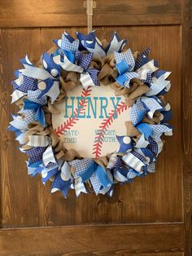
[[[35,120],[39,121],[42,126],[46,126],[46,117],[41,104],[28,99],[24,99],[24,110],[36,111]]]

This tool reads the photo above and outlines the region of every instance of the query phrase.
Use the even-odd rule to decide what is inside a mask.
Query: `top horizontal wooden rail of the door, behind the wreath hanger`
[[[0,0],[0,27],[85,26],[84,0]],[[181,24],[181,0],[97,0],[94,25]],[[117,22],[118,20],[118,22]]]

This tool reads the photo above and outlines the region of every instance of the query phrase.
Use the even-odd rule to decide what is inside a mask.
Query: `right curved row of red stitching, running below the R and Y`
[[[116,113],[114,110],[111,110],[111,113],[108,114],[107,119],[103,119],[103,122],[101,126],[99,126],[99,134],[95,137],[96,143],[94,143],[94,148],[93,148],[93,154],[95,155],[95,158],[98,158],[101,156],[101,150],[102,150],[102,145],[103,145],[103,138],[105,136],[105,131],[111,126],[112,122],[114,121],[114,116],[118,117],[121,113],[124,112],[124,110],[127,110],[129,107],[124,104],[124,102],[121,102],[120,104],[117,105],[116,108]]]

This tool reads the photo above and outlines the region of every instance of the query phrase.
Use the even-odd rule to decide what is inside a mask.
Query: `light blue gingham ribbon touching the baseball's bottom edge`
[[[93,160],[90,158],[85,158],[82,160],[76,159],[73,161],[69,161],[68,164],[70,166],[73,166],[76,168],[76,172],[74,177],[77,178],[78,176],[80,176],[80,174],[86,170],[87,168],[89,168],[89,166],[93,163]]]

